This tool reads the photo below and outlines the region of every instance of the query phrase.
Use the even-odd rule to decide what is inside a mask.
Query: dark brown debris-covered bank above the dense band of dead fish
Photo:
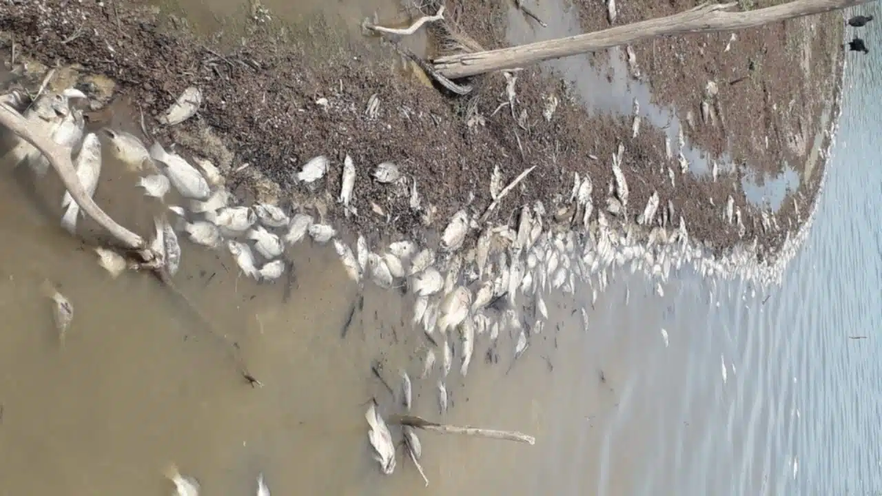
[[[51,11],[44,10],[46,4]],[[483,48],[504,43],[505,5],[447,4],[460,29]],[[619,7],[617,22],[691,6],[689,2],[627,3]],[[78,11],[89,15],[75,28],[71,19],[80,19],[75,16]],[[602,4],[582,5],[580,14],[588,29],[608,26]],[[592,178],[594,206],[604,208],[612,180],[609,157],[619,143],[624,143],[622,169],[631,190],[629,215],[639,213],[658,192],[662,206],[670,200],[676,214],[683,215],[693,239],[718,251],[742,239],[736,227],[723,220],[729,194],[744,212],[744,239],[757,237],[766,250],[774,252],[784,230],[798,223],[788,200],[777,214],[783,229],[766,232],[756,209],[744,198],[741,179],[746,168],[738,167],[735,174],[722,175],[716,182],[683,176],[676,163],[665,158],[662,130],[644,123],[632,139],[630,117],[588,116],[560,80],[537,67],[517,73],[512,112],[504,105],[502,74],[475,78],[473,94],[449,98],[393,71],[394,51],[378,41],[328,48],[297,37],[296,30],[284,36],[254,26],[243,43],[230,48],[198,39],[186,29],[170,30],[159,19],[156,11],[137,5],[13,4],[0,12],[0,32],[11,35],[20,54],[43,64],[78,64],[84,73],[116,80],[117,93],[144,110],[147,128],[156,138],[177,141],[194,154],[207,154],[222,166],[231,166],[234,172],[228,184],[244,196],[254,194],[250,171],[257,170],[279,184],[283,206],[320,203],[331,217],[342,217],[341,209],[333,205],[340,191],[342,159],[350,155],[358,169],[353,205],[359,214],[348,224],[373,238],[396,232],[422,237],[421,213],[408,207],[411,180],[416,181],[423,207],[437,207],[431,229],[443,228],[464,207],[482,213],[491,202],[490,176],[497,166],[505,183],[524,169],[537,169],[516,190],[519,194],[501,201],[491,221],[508,221],[521,205],[537,199],[547,205],[558,194],[568,199],[574,172]],[[815,22],[821,25],[824,19]],[[700,123],[706,81],[713,79],[720,86],[718,100],[726,124],[699,124],[687,133],[692,143],[714,154],[728,151],[736,163],[746,161],[760,173],[778,173],[784,161],[801,170],[827,95],[838,91],[832,65],[842,57],[833,57],[830,49],[841,31],[820,26],[810,37],[815,56],[811,71],[795,65],[795,57],[804,56],[804,46],[786,40],[802,34],[801,29],[811,31],[811,25],[796,22],[811,23],[811,19],[740,32],[726,56],[722,54],[728,34],[660,39],[635,50],[655,97],[676,106],[681,118],[691,109]],[[71,37],[77,29],[92,34]],[[753,64],[751,71],[750,61],[759,54],[761,65]],[[742,77],[747,79],[729,84]],[[172,128],[158,126],[157,117],[187,86],[198,86],[205,94],[198,116]],[[365,108],[374,94],[380,107],[371,118]],[[556,95],[560,103],[547,120],[542,110],[549,95]],[[781,116],[781,109],[794,110],[792,118]],[[519,120],[522,112],[526,119]],[[198,140],[192,137],[204,136],[205,129],[211,129],[233,155],[196,146]],[[795,129],[800,136],[809,136],[802,147],[788,144]],[[759,146],[759,132],[768,135],[769,147],[764,137]],[[327,176],[313,186],[298,183],[295,173],[319,154],[332,159]],[[387,161],[399,164],[406,184],[378,184],[370,178],[373,167]],[[235,172],[244,163],[250,168]],[[675,186],[670,184],[669,166],[676,170]],[[816,187],[818,181],[808,183],[801,188],[804,212],[813,199],[812,184]],[[385,215],[374,214],[373,204]]]

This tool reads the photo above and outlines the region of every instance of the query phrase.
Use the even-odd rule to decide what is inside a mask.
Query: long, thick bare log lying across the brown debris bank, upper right
[[[518,47],[477,53],[442,56],[432,61],[435,70],[450,79],[475,76],[536,64],[552,58],[573,56],[626,45],[657,36],[690,33],[736,31],[763,26],[786,19],[837,11],[875,0],[796,0],[787,4],[756,11],[733,12],[737,3],[702,4],[689,11],[668,17],[648,19],[624,26],[610,27],[588,34],[577,34],[557,40],[538,41]]]

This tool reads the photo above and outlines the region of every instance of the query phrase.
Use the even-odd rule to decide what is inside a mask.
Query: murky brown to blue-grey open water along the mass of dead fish
[[[862,62],[849,69],[856,87],[878,82],[882,59]],[[448,380],[443,420],[527,432],[536,445],[423,433],[428,488],[401,457],[392,477],[379,473],[363,417],[371,397],[400,413],[372,363],[392,387],[400,368],[419,373],[424,339],[409,324],[410,297],[367,284],[360,303],[333,249],[307,243],[287,254],[296,282],[286,302],[283,282],[257,285],[225,252],[183,242],[176,282],[241,347],[265,383],[251,388],[224,345],[151,277],[111,280],[63,234],[56,179],[32,184],[4,164],[3,492],[168,493],[169,462],[206,494],[253,493],[260,471],[279,494],[879,491],[882,173],[871,133],[882,113],[865,110],[873,106],[876,94],[847,94],[814,231],[781,288],[684,268],[657,297],[620,271],[594,309],[588,288],[547,297],[549,323],[510,372],[512,336],[501,333],[497,364],[485,363],[479,339],[467,380]],[[132,177],[105,167],[97,201],[145,231],[155,206],[133,204]],[[44,277],[75,307],[64,347],[38,291]],[[415,380],[415,412],[430,419],[439,418],[435,381]]]

